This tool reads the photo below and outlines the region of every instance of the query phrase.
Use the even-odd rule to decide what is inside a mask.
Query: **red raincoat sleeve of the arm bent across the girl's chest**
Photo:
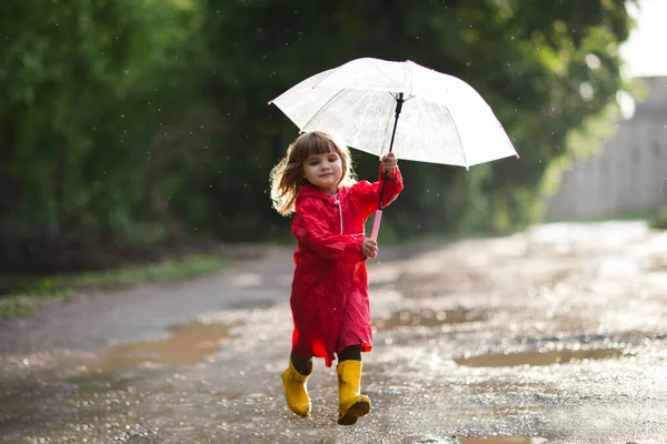
[[[309,246],[317,254],[329,260],[358,263],[367,259],[361,251],[364,236],[334,234],[323,221],[317,204],[309,201],[298,206],[292,233],[300,244]]]

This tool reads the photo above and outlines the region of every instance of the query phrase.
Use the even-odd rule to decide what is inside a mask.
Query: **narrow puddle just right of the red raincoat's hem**
[[[461,324],[465,322],[486,321],[482,312],[457,307],[454,310],[421,310],[420,312],[400,311],[391,314],[389,319],[377,319],[374,326],[378,331],[399,329],[402,326],[434,327],[446,324]]]

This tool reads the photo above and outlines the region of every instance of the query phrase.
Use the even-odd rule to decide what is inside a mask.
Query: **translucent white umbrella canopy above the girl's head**
[[[301,81],[269,103],[301,131],[332,131],[371,154],[392,150],[399,159],[466,168],[518,157],[472,87],[409,60],[356,59]]]

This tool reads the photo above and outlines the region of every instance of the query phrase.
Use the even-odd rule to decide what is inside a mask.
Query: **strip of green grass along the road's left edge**
[[[119,270],[51,276],[0,275],[0,284],[22,289],[0,297],[0,319],[31,314],[40,301],[66,299],[86,291],[119,290],[158,281],[199,278],[220,271],[226,260],[215,255],[187,255]]]

